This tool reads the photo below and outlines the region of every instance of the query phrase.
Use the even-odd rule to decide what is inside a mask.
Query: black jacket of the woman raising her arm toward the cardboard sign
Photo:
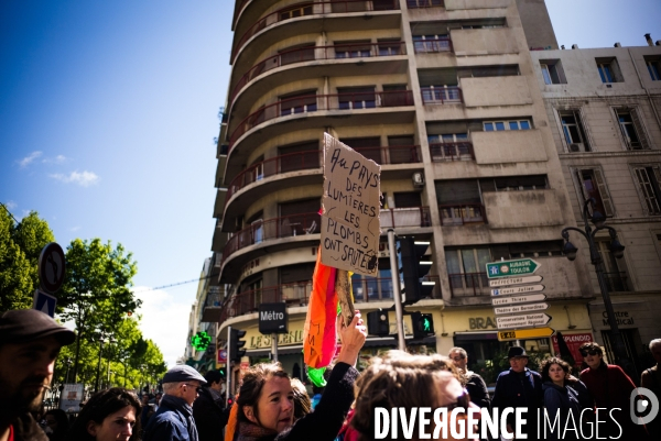
[[[282,433],[262,437],[259,441],[334,441],[354,403],[354,383],[357,377],[358,371],[353,366],[337,363],[314,411]]]

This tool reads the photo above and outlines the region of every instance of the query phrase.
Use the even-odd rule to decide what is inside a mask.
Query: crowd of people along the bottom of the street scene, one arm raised
[[[63,410],[35,415],[59,349],[74,342],[74,332],[36,310],[8,311],[0,316],[0,441],[369,441],[382,438],[382,417],[392,423],[388,439],[476,440],[487,433],[484,439],[498,440],[517,430],[529,440],[661,439],[661,417],[647,426],[629,417],[636,385],[619,366],[605,363],[596,343],[581,346],[587,368],[577,376],[556,356],[534,372],[525,350],[511,346],[510,368],[498,376],[491,398],[485,381],[468,370],[462,348],[447,356],[393,350],[359,373],[355,366],[367,337],[359,311],[338,333],[340,352],[326,386],[314,389],[312,398],[279,363],[262,363],[245,372],[236,403],[226,406],[218,371],[202,376],[177,365],[164,375],[162,396],[139,399],[124,388],[105,389],[89,398],[69,427]],[[661,339],[652,340],[650,351],[657,365],[642,373],[640,383],[661,397]],[[444,412],[434,414],[431,423],[422,410],[420,418],[403,421],[423,408]],[[525,409],[525,422],[509,412],[506,432],[491,437],[479,430],[489,427],[481,409],[508,408]]]

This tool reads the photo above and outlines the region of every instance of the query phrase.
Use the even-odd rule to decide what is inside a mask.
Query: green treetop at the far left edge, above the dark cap
[[[55,236],[48,223],[36,211],[14,222],[2,206],[0,209],[0,310],[32,307],[39,286],[39,256]]]

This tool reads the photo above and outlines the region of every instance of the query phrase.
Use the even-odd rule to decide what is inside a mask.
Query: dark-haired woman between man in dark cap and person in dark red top
[[[544,407],[546,408],[548,419],[550,421],[560,421],[553,430],[551,428],[540,428],[549,440],[579,440],[581,433],[587,437],[589,432],[587,422],[594,420],[594,401],[587,392],[583,382],[572,377],[572,368],[564,360],[552,356],[542,362],[542,389],[544,390]],[[584,409],[585,412],[583,412]],[[557,415],[560,414],[560,417]],[[570,423],[568,421],[573,421]],[[545,419],[540,419],[544,423]],[[583,422],[584,427],[581,427]],[[576,430],[565,431],[565,423],[568,428]]]

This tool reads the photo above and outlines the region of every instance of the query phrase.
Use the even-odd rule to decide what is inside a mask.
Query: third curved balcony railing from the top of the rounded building
[[[236,141],[243,133],[274,118],[316,112],[317,110],[373,109],[401,106],[413,106],[411,90],[305,95],[286,98],[258,109],[241,121],[229,137],[229,150],[231,151]]]

